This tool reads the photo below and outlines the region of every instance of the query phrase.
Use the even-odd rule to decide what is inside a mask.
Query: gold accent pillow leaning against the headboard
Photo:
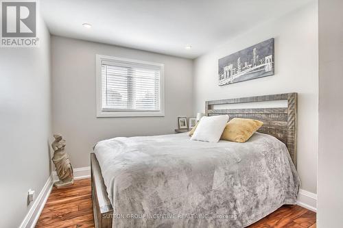
[[[262,125],[263,122],[250,118],[233,118],[226,124],[220,139],[233,142],[246,142]]]

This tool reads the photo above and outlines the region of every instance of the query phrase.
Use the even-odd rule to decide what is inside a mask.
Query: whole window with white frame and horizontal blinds
[[[163,64],[97,55],[97,117],[164,116]]]

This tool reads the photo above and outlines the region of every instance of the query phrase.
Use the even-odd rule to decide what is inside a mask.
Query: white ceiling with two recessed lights
[[[196,58],[309,1],[44,0],[40,10],[54,35]]]

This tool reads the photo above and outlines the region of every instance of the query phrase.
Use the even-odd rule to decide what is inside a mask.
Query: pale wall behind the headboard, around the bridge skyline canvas
[[[213,99],[298,92],[298,173],[301,188],[316,193],[318,150],[318,14],[313,1],[304,8],[254,27],[226,45],[200,56],[193,68],[193,112]],[[218,86],[218,59],[275,38],[275,75]]]

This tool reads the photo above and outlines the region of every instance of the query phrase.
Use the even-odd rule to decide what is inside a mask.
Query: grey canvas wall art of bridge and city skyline
[[[219,86],[274,75],[274,38],[218,61]]]

